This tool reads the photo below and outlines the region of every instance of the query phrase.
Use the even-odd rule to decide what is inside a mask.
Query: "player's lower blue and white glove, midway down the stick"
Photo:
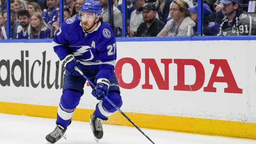
[[[92,95],[97,98],[97,100],[103,100],[105,94],[108,96],[108,88],[109,88],[109,81],[106,78],[99,78],[97,80],[96,92],[95,89],[92,90]]]

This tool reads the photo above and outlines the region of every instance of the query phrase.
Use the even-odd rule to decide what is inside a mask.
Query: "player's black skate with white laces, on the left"
[[[69,124],[71,124],[71,121],[69,122]],[[69,125],[68,124],[68,125]],[[60,126],[57,122],[56,122],[56,127],[55,127],[55,129],[50,133],[50,134],[48,134],[46,137],[45,137],[45,139],[47,140],[47,141],[49,141],[50,143],[55,143],[55,142],[57,142],[58,140],[60,140],[62,137],[66,140],[66,134],[65,134],[65,132],[66,132],[66,130],[67,130],[67,128],[63,128],[62,126]]]

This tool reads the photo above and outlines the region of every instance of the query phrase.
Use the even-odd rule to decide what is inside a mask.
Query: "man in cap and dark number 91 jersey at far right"
[[[256,24],[252,17],[241,11],[239,0],[221,0],[224,19],[217,36],[251,36],[255,35]]]

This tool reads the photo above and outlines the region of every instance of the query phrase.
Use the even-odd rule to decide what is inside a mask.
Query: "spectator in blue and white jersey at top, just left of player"
[[[58,9],[57,8],[57,0],[46,0],[46,5],[48,9],[46,12],[43,12],[44,21],[51,28],[52,23],[58,20]]]

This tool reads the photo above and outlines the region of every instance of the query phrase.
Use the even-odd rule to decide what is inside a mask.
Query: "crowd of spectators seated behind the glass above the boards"
[[[7,39],[6,1],[0,0],[0,39]],[[103,21],[113,24],[114,35],[121,37],[123,1],[113,0],[110,20],[108,0],[99,1]],[[64,0],[64,21],[78,16],[84,2]],[[248,3],[249,0],[203,0],[202,35],[256,35],[255,12],[247,12]],[[10,5],[10,39],[55,36],[60,27],[59,0],[10,0]],[[126,36],[197,36],[197,7],[196,0],[127,0]]]

